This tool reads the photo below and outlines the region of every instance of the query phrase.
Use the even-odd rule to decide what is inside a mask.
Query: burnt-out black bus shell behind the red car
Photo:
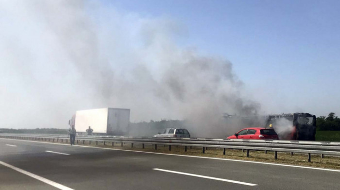
[[[271,127],[280,140],[315,141],[316,117],[309,113],[269,115],[265,128]]]

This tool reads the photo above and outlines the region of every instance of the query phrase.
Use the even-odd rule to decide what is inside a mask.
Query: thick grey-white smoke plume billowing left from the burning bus
[[[169,18],[11,0],[0,2],[0,27],[0,127],[63,128],[77,110],[114,107],[132,122],[186,119],[196,136],[224,136],[234,129],[223,112],[259,111],[232,64],[178,46],[186,31]]]

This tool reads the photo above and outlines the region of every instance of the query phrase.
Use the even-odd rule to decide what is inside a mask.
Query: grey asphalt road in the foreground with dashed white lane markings
[[[337,171],[0,139],[0,190],[336,190],[339,179]]]

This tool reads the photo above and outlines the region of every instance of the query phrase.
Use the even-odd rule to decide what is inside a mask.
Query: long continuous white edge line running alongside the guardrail
[[[25,141],[25,142],[31,142],[31,143],[47,143],[47,142],[37,142],[37,141],[18,140],[18,139],[5,139],[5,138],[0,138],[0,139],[12,140],[12,141]],[[62,143],[47,143],[47,144],[58,144],[58,145],[70,146],[69,144],[62,144]],[[102,148],[102,147],[84,146],[84,145],[73,145],[73,146],[85,147],[85,148],[98,148],[98,149],[104,149],[104,150],[119,150],[119,151],[126,151],[126,152],[140,152],[140,153],[146,153],[146,154],[158,154],[158,155],[168,155],[168,156],[177,156],[177,157],[190,157],[190,158],[204,158],[204,159],[217,159],[217,160],[226,160],[226,161],[238,161],[238,162],[255,163],[255,164],[266,164],[266,165],[285,166],[285,167],[293,167],[293,168],[323,170],[323,171],[329,171],[329,172],[340,172],[340,170],[333,170],[333,169],[312,168],[312,167],[306,167],[306,166],[294,166],[294,165],[288,165],[288,164],[277,164],[277,163],[269,163],[269,162],[258,162],[258,161],[227,159],[227,158],[198,157],[198,156],[189,156],[189,155],[175,155],[175,154],[166,154],[166,153],[157,153],[157,152],[143,152],[143,151],[138,151],[138,150],[122,150],[122,149],[115,149],[115,148]]]

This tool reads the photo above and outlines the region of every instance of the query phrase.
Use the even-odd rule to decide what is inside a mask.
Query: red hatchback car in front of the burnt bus
[[[244,128],[238,133],[227,137],[227,139],[274,139],[278,140],[279,136],[272,128],[249,127]]]

